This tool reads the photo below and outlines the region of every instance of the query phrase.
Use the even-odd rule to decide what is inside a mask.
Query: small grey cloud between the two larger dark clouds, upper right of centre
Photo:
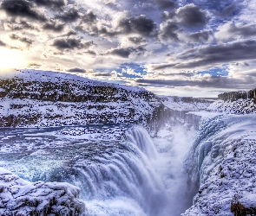
[[[179,29],[179,26],[176,22],[163,22],[161,23],[161,31],[160,31],[160,38],[161,40],[167,41],[180,41],[177,30]]]

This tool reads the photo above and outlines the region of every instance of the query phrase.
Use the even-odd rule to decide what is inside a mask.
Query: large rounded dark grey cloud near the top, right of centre
[[[206,13],[195,6],[194,3],[187,4],[178,9],[176,16],[180,23],[187,27],[203,27],[208,22]]]

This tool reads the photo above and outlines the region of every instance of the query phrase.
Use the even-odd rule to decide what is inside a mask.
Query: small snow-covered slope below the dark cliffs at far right
[[[256,113],[256,104],[253,98],[231,100],[217,100],[209,105],[207,111],[224,112],[226,114]]]

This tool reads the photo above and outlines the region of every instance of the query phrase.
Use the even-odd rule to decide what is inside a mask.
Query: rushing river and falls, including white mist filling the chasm
[[[106,124],[1,129],[0,166],[28,181],[68,181],[89,215],[180,215],[191,205],[183,156],[194,133]]]

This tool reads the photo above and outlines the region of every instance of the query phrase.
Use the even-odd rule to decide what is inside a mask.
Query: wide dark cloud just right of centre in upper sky
[[[153,34],[156,25],[153,20],[141,15],[121,19],[118,28],[121,29],[122,34],[138,33],[140,35],[150,36]]]

